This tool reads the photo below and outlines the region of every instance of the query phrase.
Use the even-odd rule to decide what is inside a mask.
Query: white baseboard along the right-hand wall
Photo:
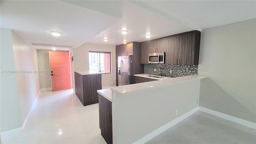
[[[243,126],[247,126],[247,127],[249,127],[249,128],[253,128],[253,129],[256,130],[256,123],[249,122],[249,121],[243,120],[243,119],[241,119],[241,118],[236,118],[236,117],[230,116],[230,115],[228,115],[228,114],[223,114],[223,113],[221,113],[221,112],[217,112],[217,111],[215,111],[215,110],[211,110],[211,109],[208,109],[208,108],[204,108],[204,107],[202,107],[202,106],[199,106],[199,110],[200,110],[201,112],[206,112],[206,113],[208,113],[208,114],[211,114],[211,115],[214,115],[214,116],[218,116],[218,117],[223,118],[223,119],[225,119],[225,120],[229,120],[229,121],[231,121],[231,122],[235,122],[235,123],[237,123],[237,124],[241,124],[241,125],[243,125]]]

